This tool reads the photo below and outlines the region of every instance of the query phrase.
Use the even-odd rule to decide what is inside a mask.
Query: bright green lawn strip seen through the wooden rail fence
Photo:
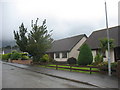
[[[49,64],[47,66],[55,66],[55,67],[47,67],[45,65],[37,65],[37,66],[38,67],[46,67],[46,68],[56,69],[56,65],[54,65],[54,64]],[[93,66],[93,65],[89,65],[89,66]],[[58,65],[58,67],[69,68],[70,66]],[[83,69],[83,70],[90,70],[89,67],[74,67],[74,66],[72,66],[72,68],[74,68],[74,69]],[[64,68],[58,68],[58,70],[67,70],[67,71],[70,71],[70,69],[64,69]],[[92,68],[91,70],[99,71],[99,69],[97,69],[97,68]],[[82,73],[90,73],[89,71],[80,71],[80,70],[72,70],[72,71],[74,71],[74,72],[82,72]],[[97,73],[97,72],[92,72],[92,73]]]

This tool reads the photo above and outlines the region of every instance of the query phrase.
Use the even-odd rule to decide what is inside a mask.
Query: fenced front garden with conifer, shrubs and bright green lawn
[[[103,56],[98,53],[93,62],[92,52],[87,44],[84,44],[80,48],[80,53],[78,59],[71,57],[67,60],[66,64],[52,63],[49,61],[49,56],[46,54],[40,64],[36,65],[38,67],[52,68],[56,70],[67,70],[75,72],[84,72],[84,73],[106,73],[108,71],[108,62],[103,61]],[[55,62],[55,61],[54,61]],[[117,62],[111,63],[112,73],[116,74]]]

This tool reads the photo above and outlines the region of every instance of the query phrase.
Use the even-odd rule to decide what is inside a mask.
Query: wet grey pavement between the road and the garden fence
[[[14,64],[14,63],[7,63],[7,64],[32,70],[32,71],[46,74],[49,76],[63,78],[63,79],[67,79],[75,82],[81,82],[83,84],[98,86],[100,88],[118,88],[118,79],[113,76],[109,77],[107,75],[101,75],[101,74],[90,75],[90,74],[85,74],[80,72],[54,70],[54,69],[49,69],[44,67],[35,67],[35,66],[21,65],[21,64]]]

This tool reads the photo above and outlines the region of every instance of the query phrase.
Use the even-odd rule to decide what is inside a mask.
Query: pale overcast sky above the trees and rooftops
[[[118,25],[118,1],[106,0],[109,27]],[[23,22],[30,30],[31,20],[47,20],[52,37],[61,39],[80,34],[89,36],[105,25],[105,0],[1,0],[0,32],[2,39],[14,39],[13,30]]]

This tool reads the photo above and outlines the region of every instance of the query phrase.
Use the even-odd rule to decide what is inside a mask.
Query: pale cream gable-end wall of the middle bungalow
[[[83,37],[78,43],[77,45],[69,52],[69,57],[74,57],[74,58],[78,58],[78,55],[79,55],[79,51],[78,49],[81,47],[81,45],[86,41],[86,37]]]

